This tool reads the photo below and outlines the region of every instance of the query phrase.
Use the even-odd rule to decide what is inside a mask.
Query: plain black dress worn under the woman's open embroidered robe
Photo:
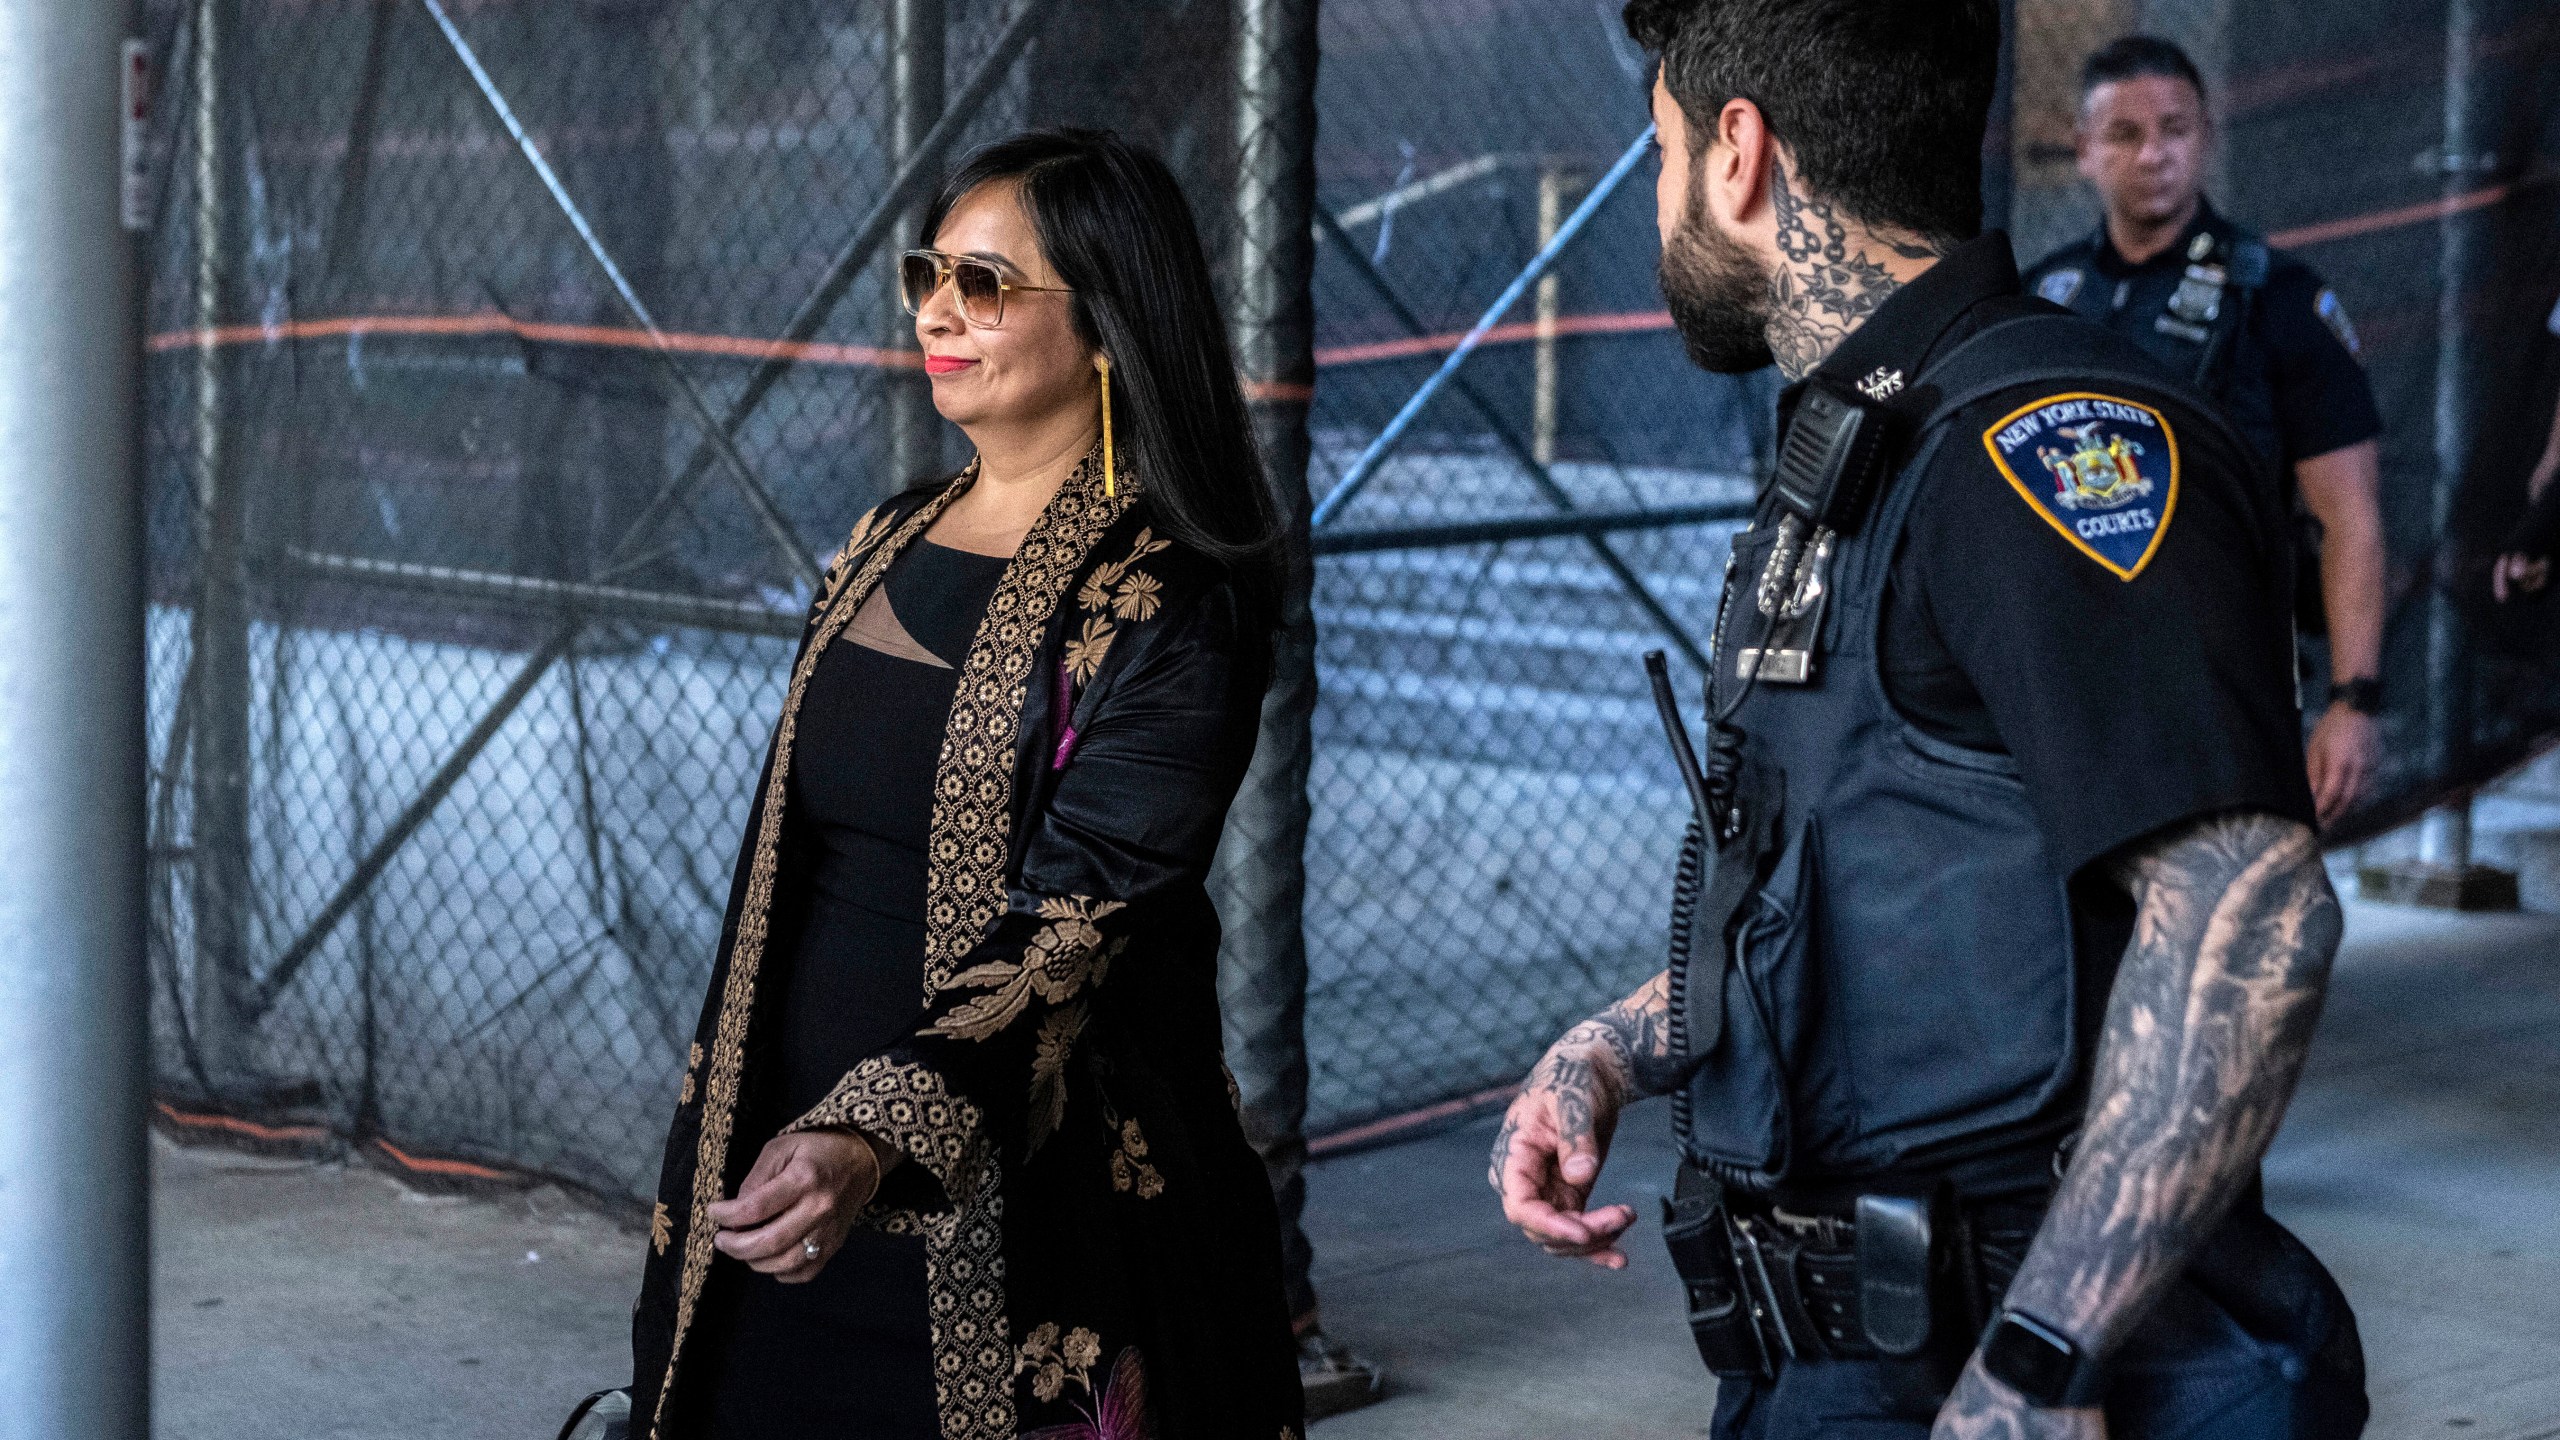
[[[781,1066],[763,1145],[924,1012],[924,846],[952,689],[1004,556],[919,541],[819,656],[791,771]],[[719,1440],[932,1440],[924,1240],[855,1227],[809,1284],[714,1263],[699,1414]]]

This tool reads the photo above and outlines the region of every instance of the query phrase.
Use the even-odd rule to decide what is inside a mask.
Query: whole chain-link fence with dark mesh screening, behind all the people
[[[154,0],[164,1094],[637,1194],[812,556],[960,459],[888,292],[916,202],[899,177],[1024,123],[1116,126],[1183,174],[1236,295],[1239,213],[1267,195],[1242,179],[1234,51],[1265,8]],[[1669,651],[1695,694],[1774,379],[1682,361],[1636,149],[1644,56],[1615,10],[1321,15],[1318,1133],[1498,1086],[1661,963],[1687,805],[1641,653]],[[2319,184],[2296,161],[2330,118],[2388,118],[2417,149],[2442,105],[2440,64],[2376,59],[2432,13],[2332,10],[2209,64],[2250,179],[2230,208],[2332,246],[2314,261],[2394,420],[2409,797],[2435,774],[2414,720],[2435,218],[2394,215],[2481,215],[2514,241],[2465,295],[2547,307],[2560,254],[2524,231],[2550,233],[2532,156],[2552,115],[2532,95],[2560,85],[2550,26],[2496,20],[2483,56],[2516,123],[2481,195],[2504,190],[2463,210],[2442,169],[2399,159]],[[2020,15],[2022,67],[2076,59],[2035,15],[2086,44],[2145,18]],[[2068,205],[2038,113],[2053,85],[2028,79],[2033,233]],[[2458,413],[2547,415],[2514,379],[2524,343],[2483,348],[2506,369]],[[2465,461],[2486,477],[2470,533],[2511,510],[2501,456]],[[2481,748],[2560,710],[2547,635],[2488,635]]]

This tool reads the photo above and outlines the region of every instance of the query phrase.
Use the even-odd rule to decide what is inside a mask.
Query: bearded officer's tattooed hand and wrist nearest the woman
[[[1503,1217],[1549,1256],[1626,1268],[1618,1238],[1636,1209],[1582,1204],[1626,1102],[1679,1081],[1669,1020],[1672,976],[1659,974],[1549,1045],[1503,1115],[1485,1179],[1503,1197]]]

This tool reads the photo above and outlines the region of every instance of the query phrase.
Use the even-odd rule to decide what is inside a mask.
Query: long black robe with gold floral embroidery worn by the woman
[[[794,874],[801,694],[888,561],[968,484],[865,515],[812,607],[668,1133],[632,1317],[635,1435],[686,1440],[671,1396],[714,1281],[704,1209],[755,1161],[742,1097],[778,1063],[758,971]],[[1224,571],[1149,523],[1137,477],[1103,495],[1088,461],[960,666],[934,774],[924,1025],[786,1127],[850,1125],[906,1156],[860,1225],[924,1238],[945,1440],[1052,1425],[1293,1440],[1303,1425],[1272,1199],[1219,1061],[1203,889],[1265,656]]]

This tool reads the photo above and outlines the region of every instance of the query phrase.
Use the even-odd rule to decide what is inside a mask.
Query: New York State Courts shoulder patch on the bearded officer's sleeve
[[[2002,415],[1981,448],[2017,497],[2117,579],[2143,574],[2179,510],[2179,436],[2150,405],[2048,395]]]

